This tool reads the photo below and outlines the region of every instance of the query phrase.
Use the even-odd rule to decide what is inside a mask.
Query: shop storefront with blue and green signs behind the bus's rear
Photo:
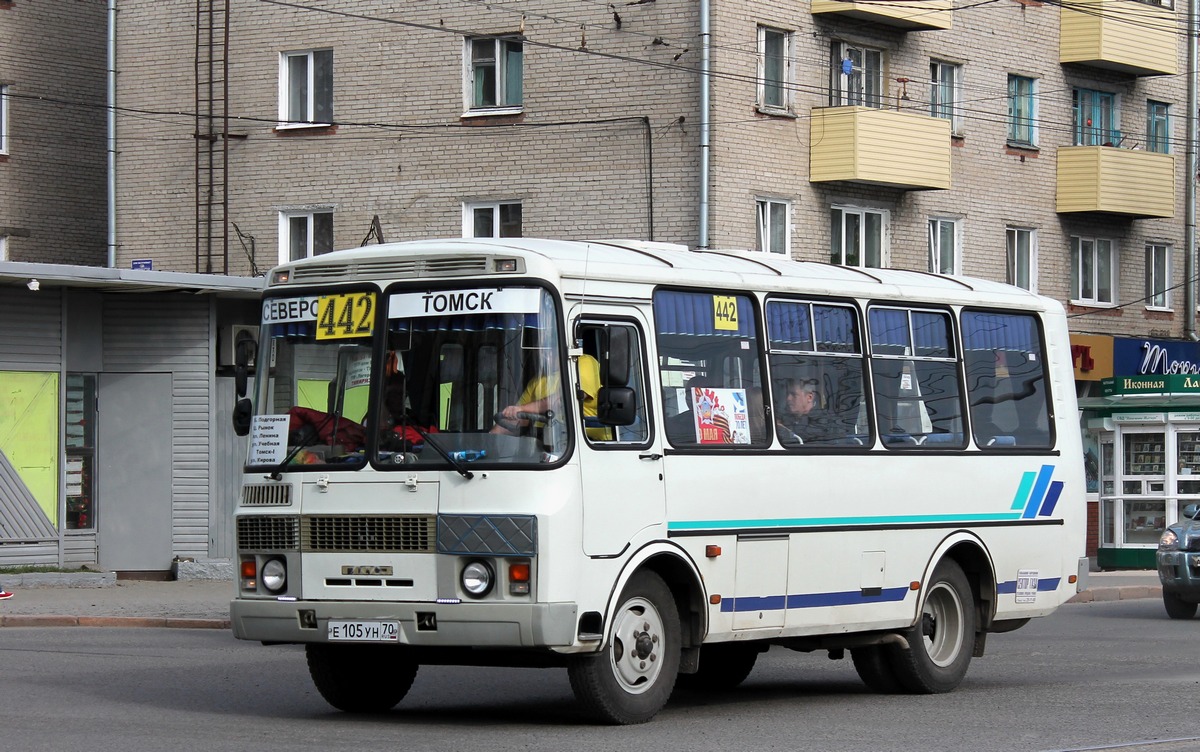
[[[1103,338],[1090,339],[1093,365],[1097,354],[1106,361]],[[1079,366],[1076,355],[1076,379]],[[1200,343],[1112,338],[1105,371],[1093,367],[1087,375],[1099,378],[1078,383],[1090,542],[1102,568],[1154,568],[1159,535],[1200,501]]]

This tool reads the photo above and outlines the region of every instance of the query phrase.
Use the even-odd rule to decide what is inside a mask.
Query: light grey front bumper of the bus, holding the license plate
[[[424,646],[556,648],[575,642],[575,603],[395,603],[236,598],[229,603],[234,637],[264,643],[325,643],[330,621],[378,625],[386,642]],[[355,627],[355,630],[361,627]],[[353,632],[354,630],[352,630]],[[383,642],[383,640],[380,640]]]

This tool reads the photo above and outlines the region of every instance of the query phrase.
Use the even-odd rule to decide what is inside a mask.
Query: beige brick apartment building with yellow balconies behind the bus
[[[71,5],[94,16],[101,7]],[[5,8],[29,7],[0,1],[0,22]],[[1144,343],[1168,353],[1168,363],[1200,363],[1184,331],[1186,300],[1194,301],[1182,287],[1180,8],[1133,0],[120,0],[115,8],[108,230],[118,270],[149,263],[254,276],[379,240],[524,235],[652,239],[1008,281],[1078,314],[1098,546],[1144,557],[1157,540],[1151,525],[1200,495],[1182,464],[1139,474],[1139,463],[1120,462],[1134,434],[1163,434],[1164,453],[1200,438],[1200,413],[1178,407],[1188,396],[1104,396],[1097,380],[1144,369],[1128,365]],[[102,18],[92,23],[94,34],[104,29]],[[91,48],[97,76],[102,42]],[[0,83],[16,90],[8,76],[0,68]],[[102,125],[78,130],[92,136]],[[77,261],[102,263],[98,254]],[[210,353],[218,332],[251,323],[246,313],[212,309]],[[220,366],[205,367],[215,390]],[[179,473],[176,486],[187,476]],[[174,497],[176,555],[204,553],[205,507],[193,501]]]

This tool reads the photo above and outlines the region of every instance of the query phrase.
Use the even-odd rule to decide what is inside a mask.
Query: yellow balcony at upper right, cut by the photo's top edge
[[[1072,0],[1058,17],[1058,62],[1133,76],[1180,72],[1175,8],[1135,0]]]

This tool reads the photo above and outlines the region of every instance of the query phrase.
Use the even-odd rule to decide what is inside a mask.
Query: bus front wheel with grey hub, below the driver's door
[[[612,616],[612,634],[594,655],[568,667],[583,709],[605,723],[644,723],[671,698],[679,673],[679,614],[662,578],[642,571],[629,580]]]

